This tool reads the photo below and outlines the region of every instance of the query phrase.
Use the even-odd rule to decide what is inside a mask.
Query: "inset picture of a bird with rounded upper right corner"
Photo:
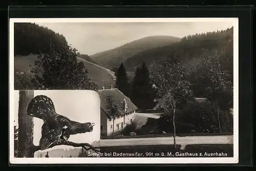
[[[14,91],[14,157],[99,153],[100,102],[88,90]],[[94,155],[96,156],[96,155]]]

